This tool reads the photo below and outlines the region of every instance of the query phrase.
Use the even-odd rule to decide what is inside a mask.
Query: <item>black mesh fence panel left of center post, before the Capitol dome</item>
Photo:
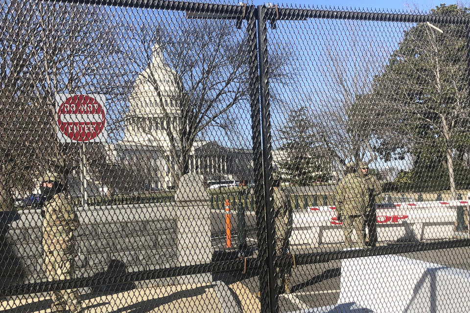
[[[259,312],[254,7],[78,2],[2,2],[0,310]]]

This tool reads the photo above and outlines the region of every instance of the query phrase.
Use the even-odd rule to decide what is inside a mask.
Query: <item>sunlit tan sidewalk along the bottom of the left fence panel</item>
[[[134,289],[108,295],[83,294],[86,313],[255,313],[259,299],[248,288],[221,281],[205,286],[165,286]],[[1,313],[48,313],[48,297],[28,295],[0,302]]]

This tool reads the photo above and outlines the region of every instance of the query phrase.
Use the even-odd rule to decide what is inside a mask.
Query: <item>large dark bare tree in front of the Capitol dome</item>
[[[188,172],[198,136],[214,129],[230,135],[246,127],[234,115],[249,112],[247,39],[233,22],[219,20],[188,21],[171,28],[161,25],[158,31],[150,28],[139,33],[139,43],[147,52],[143,62],[147,70],[136,83],[150,90],[134,101],[143,107],[150,105],[145,101],[153,101],[156,108],[150,110],[163,116],[166,142],[161,155],[177,183]],[[288,82],[289,57],[283,51],[272,53],[273,79]],[[175,92],[168,95],[168,88]],[[167,97],[174,107],[165,101]]]

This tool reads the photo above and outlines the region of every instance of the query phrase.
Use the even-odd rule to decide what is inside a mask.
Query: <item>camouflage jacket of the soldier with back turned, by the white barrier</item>
[[[346,175],[336,185],[334,199],[337,214],[362,215],[366,212],[369,189],[357,173]]]

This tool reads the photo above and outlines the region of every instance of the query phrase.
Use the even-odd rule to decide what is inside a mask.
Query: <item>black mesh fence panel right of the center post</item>
[[[269,73],[263,128],[279,312],[450,312],[427,288],[469,284],[449,258],[468,253],[468,14],[264,9],[267,50],[290,60]]]

